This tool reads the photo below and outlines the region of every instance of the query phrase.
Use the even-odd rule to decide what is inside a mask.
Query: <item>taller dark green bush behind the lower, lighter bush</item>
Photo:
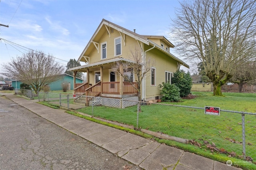
[[[186,73],[184,70],[174,72],[172,84],[175,84],[180,89],[180,97],[188,96],[192,88],[192,78],[190,73]]]

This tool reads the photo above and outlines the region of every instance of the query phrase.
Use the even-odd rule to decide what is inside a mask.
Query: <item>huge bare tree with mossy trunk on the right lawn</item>
[[[255,53],[244,54],[256,45],[256,1],[195,0],[180,6],[171,27],[176,49],[191,63],[202,62],[214,95],[222,96],[234,67],[255,59]]]

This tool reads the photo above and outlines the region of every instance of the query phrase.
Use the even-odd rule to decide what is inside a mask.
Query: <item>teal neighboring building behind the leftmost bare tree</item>
[[[62,84],[63,83],[69,83],[70,84],[70,88],[68,90],[73,90],[74,89],[74,77],[69,75],[69,74],[63,74],[61,75],[60,79],[56,80],[55,82],[51,82],[49,84],[50,86],[50,90],[62,90]],[[83,83],[83,80],[81,78],[76,78],[76,82],[77,83]],[[20,84],[22,84],[22,82],[20,80],[12,80],[12,87],[14,88],[20,88]]]

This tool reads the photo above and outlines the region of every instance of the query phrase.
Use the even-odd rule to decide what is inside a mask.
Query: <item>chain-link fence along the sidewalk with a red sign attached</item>
[[[78,112],[186,139],[206,152],[224,153],[256,164],[256,113],[50,92],[40,92],[38,98],[68,109],[80,101]]]

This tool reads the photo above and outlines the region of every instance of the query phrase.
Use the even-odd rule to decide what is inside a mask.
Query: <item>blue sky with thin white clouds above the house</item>
[[[29,48],[66,66],[78,59],[103,18],[141,35],[168,38],[175,8],[177,0],[0,0],[0,23],[9,25],[0,26],[0,64]]]

